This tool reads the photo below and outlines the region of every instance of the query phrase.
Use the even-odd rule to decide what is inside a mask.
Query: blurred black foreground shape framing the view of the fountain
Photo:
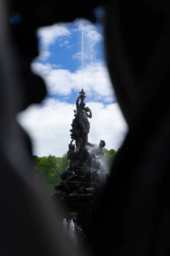
[[[0,254],[82,255],[62,235],[59,209],[34,184],[31,144],[15,121],[46,89],[31,74],[36,29],[105,8],[105,55],[129,125],[87,232],[92,255],[170,254],[170,15],[165,1],[0,1]],[[14,24],[10,18],[19,14]],[[9,24],[11,24],[9,26]],[[133,154],[132,154],[133,152]]]

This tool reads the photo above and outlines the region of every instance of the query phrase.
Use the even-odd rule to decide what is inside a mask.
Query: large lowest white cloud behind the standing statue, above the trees
[[[119,105],[115,103],[104,106],[95,102],[86,105],[91,108],[93,115],[89,120],[89,142],[98,144],[100,140],[105,140],[107,149],[117,150],[127,132],[127,124]],[[61,157],[68,151],[75,108],[75,105],[47,99],[43,108],[32,105],[18,115],[20,124],[32,139],[34,154],[40,157],[49,154]]]

